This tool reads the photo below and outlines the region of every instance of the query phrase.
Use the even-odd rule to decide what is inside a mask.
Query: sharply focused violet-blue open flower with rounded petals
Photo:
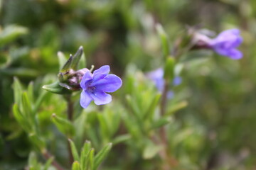
[[[107,93],[116,91],[122,86],[122,80],[114,74],[109,74],[110,66],[105,65],[96,69],[93,74],[88,70],[82,77],[80,86],[82,93],[80,105],[87,108],[93,100],[96,105],[103,105],[112,101],[112,96]]]

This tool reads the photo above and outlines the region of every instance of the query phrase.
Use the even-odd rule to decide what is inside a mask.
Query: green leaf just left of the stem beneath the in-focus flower
[[[72,137],[75,134],[75,128],[69,120],[60,118],[55,113],[53,113],[51,118],[53,120],[53,123],[57,126],[58,130],[60,130],[60,132],[63,132],[68,137]]]

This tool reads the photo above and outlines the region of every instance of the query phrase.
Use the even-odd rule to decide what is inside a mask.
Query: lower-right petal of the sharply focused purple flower
[[[95,91],[90,96],[95,101],[97,105],[103,105],[110,103],[112,101],[112,96],[110,94],[106,94],[104,91]]]

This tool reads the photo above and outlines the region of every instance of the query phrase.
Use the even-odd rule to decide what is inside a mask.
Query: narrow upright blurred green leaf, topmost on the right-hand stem
[[[164,31],[164,28],[161,26],[161,24],[156,25],[157,33],[159,34],[159,37],[161,39],[161,43],[163,46],[163,54],[164,58],[168,57],[170,55],[170,49],[169,49],[169,42],[167,39],[167,35]]]

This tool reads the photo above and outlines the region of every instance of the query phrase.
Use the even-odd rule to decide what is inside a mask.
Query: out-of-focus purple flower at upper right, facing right
[[[219,55],[225,55],[233,60],[242,58],[242,52],[236,49],[242,43],[240,30],[231,29],[220,33],[210,42],[210,47]]]

